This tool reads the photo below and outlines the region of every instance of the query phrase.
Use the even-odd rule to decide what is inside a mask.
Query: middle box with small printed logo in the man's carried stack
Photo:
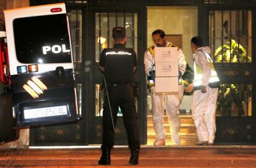
[[[177,62],[155,62],[156,77],[179,76]]]

